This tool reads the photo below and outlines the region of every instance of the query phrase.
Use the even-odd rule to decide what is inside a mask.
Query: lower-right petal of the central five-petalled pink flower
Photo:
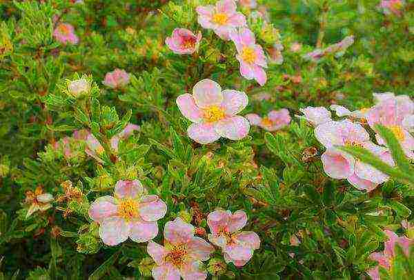
[[[241,116],[221,119],[215,123],[215,131],[221,137],[230,140],[240,140],[247,136],[250,130],[250,123]]]

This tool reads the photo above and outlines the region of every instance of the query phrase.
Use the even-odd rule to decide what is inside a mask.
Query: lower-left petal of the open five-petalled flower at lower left
[[[99,237],[103,243],[116,246],[128,239],[130,224],[119,217],[104,219],[99,226]]]

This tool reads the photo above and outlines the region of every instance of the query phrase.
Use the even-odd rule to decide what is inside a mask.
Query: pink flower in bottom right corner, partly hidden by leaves
[[[378,265],[375,268],[368,270],[368,274],[373,280],[380,280],[380,266],[386,270],[392,270],[393,259],[395,257],[395,245],[398,244],[401,246],[404,254],[408,256],[409,247],[414,243],[413,239],[398,237],[398,235],[391,230],[384,230],[384,233],[388,236],[388,241],[384,243],[384,251],[373,252],[369,256],[370,259],[378,262]]]

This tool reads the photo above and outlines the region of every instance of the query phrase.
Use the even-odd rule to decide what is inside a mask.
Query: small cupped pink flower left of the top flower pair
[[[166,45],[176,54],[192,54],[199,47],[201,32],[197,36],[188,29],[175,28],[171,37],[166,38]]]

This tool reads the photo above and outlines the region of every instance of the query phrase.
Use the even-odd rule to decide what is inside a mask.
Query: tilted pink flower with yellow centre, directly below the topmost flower
[[[240,63],[240,74],[248,80],[255,79],[260,86],[266,83],[266,56],[262,46],[256,44],[255,34],[248,28],[230,32],[230,39],[237,49],[236,59]]]

